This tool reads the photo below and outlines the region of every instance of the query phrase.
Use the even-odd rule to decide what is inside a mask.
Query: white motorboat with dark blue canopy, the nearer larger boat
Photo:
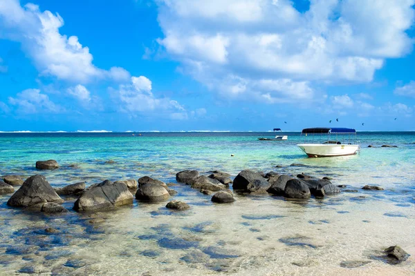
[[[358,144],[351,143],[351,135],[354,135],[354,140],[356,141],[356,130],[353,128],[304,128],[302,130],[302,135],[305,137],[312,137],[315,139],[322,136],[328,135],[328,140],[324,143],[304,143],[297,144],[297,146],[308,156],[308,157],[335,157],[335,156],[345,156],[345,155],[356,155],[360,146]],[[332,135],[335,135],[336,140],[333,141]],[[338,135],[342,135],[343,142],[338,141]],[[345,136],[346,138],[344,139]],[[345,141],[347,140],[347,141]]]

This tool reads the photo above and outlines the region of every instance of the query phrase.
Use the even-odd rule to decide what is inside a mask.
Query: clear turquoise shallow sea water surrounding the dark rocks
[[[212,204],[189,186],[174,186],[174,199],[192,208],[177,213],[165,203],[142,204],[95,215],[45,216],[6,206],[0,196],[0,274],[55,275],[408,275],[415,263],[415,132],[358,133],[360,155],[309,159],[288,141],[257,141],[270,132],[0,134],[0,175],[45,175],[52,186],[77,181],[138,179],[176,182],[176,172],[244,168],[333,177],[358,193],[306,202],[240,196]],[[310,137],[308,137],[310,138]],[[369,144],[377,148],[367,148]],[[393,144],[398,148],[380,148]],[[233,157],[231,155],[234,155]],[[56,159],[58,170],[39,172],[37,160]],[[108,164],[112,160],[115,163]],[[72,168],[71,164],[77,164]],[[303,164],[306,166],[290,166]],[[278,168],[276,166],[279,166]],[[367,184],[385,188],[364,191]],[[363,197],[362,197],[363,196]],[[64,206],[71,209],[74,198]],[[103,217],[90,224],[91,217]],[[46,235],[46,226],[59,234]],[[391,266],[371,256],[398,244],[412,257]],[[342,268],[342,261],[370,261]]]

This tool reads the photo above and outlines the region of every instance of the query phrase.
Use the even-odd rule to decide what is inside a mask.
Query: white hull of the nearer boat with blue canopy
[[[297,146],[308,157],[335,157],[356,155],[359,150],[359,145],[298,144]]]

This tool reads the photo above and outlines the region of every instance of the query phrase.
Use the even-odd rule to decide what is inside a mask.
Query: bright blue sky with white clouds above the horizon
[[[415,130],[414,1],[2,0],[0,131]]]

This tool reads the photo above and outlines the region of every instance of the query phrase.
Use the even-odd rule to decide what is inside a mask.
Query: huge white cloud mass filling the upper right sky
[[[369,82],[412,49],[414,0],[160,0],[158,39],[181,70],[226,97],[315,100],[312,84]],[[350,102],[349,102],[350,104]]]

